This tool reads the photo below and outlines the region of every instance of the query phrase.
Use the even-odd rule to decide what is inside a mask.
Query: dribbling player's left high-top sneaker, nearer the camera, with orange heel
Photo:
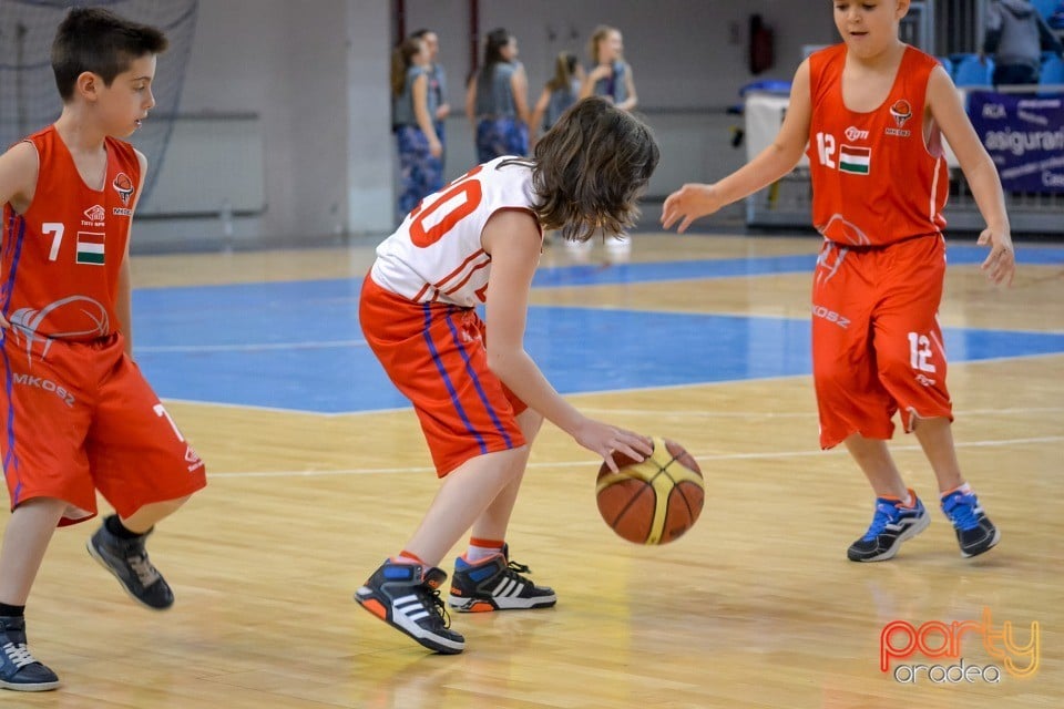
[[[451,630],[451,618],[440,599],[440,584],[446,579],[442,568],[388,559],[355,592],[355,600],[422,647],[457,655],[466,649],[466,638]]]

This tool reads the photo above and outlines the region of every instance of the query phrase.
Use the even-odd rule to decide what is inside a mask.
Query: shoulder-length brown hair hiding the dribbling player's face
[[[582,99],[535,145],[532,209],[572,242],[622,234],[659,157],[649,126],[602,96]]]

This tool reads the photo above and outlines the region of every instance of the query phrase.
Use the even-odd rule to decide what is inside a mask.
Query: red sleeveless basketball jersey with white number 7
[[[103,189],[82,181],[54,126],[25,138],[40,157],[25,214],[3,205],[0,308],[22,335],[92,340],[120,329],[119,271],[141,166],[133,146],[106,138]]]

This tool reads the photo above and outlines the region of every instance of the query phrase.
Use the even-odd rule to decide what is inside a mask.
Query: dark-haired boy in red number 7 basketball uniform
[[[57,526],[116,512],[89,553],[136,600],[174,602],[144,541],[204,486],[203,462],[132,356],[129,237],[145,160],[117,138],[155,105],[157,29],[71,10],[52,44],[63,110],[0,155],[0,454],[11,518],[0,551],[0,687],[40,691],[25,602]]]

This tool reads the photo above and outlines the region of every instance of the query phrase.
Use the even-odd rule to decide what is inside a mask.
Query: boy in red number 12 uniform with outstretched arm
[[[779,179],[808,144],[814,224],[825,242],[812,288],[812,369],[820,445],[843,443],[876,493],[855,562],[891,558],[930,517],[887,449],[900,412],[938,480],[943,512],[964,557],[1000,534],[965,482],[950,424],[947,359],[937,314],[945,274],[942,208],[949,141],[986,228],[983,269],[1011,284],[1015,256],[994,163],[949,75],[898,37],[909,0],[835,0],[843,42],[795,73],[775,142],[713,185],[684,185],[665,201],[662,224],[696,218]]]

